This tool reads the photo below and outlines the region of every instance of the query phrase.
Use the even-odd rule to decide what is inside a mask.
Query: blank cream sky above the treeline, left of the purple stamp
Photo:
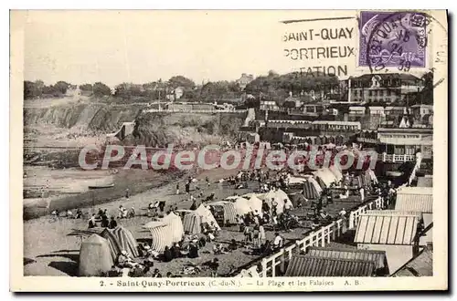
[[[175,75],[201,83],[234,80],[241,73],[266,75],[271,69],[291,72],[297,61],[286,61],[283,56],[284,33],[311,27],[316,30],[341,27],[347,23],[317,21],[286,27],[281,20],[356,13],[28,11],[26,14],[26,80],[41,79],[45,84],[58,80],[72,84],[101,81],[114,87],[122,82],[145,83]],[[352,22],[348,25],[351,26],[356,21],[348,22]],[[340,43],[327,42],[325,46]],[[301,42],[297,47],[315,46],[315,43],[324,42]],[[356,46],[356,38],[350,43]],[[352,59],[356,61],[355,57]],[[316,63],[322,64],[308,64]]]

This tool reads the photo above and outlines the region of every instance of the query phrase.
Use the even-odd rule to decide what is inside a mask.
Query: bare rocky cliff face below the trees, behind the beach
[[[247,119],[242,112],[149,112],[141,105],[62,104],[48,108],[25,108],[24,125],[53,125],[70,129],[74,135],[104,136],[116,132],[122,123],[133,122],[132,135],[122,137],[125,145],[161,146],[218,143],[235,139]],[[133,144],[132,144],[133,143]]]

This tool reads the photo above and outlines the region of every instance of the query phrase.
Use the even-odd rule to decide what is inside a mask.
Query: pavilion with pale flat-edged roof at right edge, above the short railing
[[[432,128],[378,128],[377,140],[383,161],[416,161],[418,151],[422,158],[432,156]]]

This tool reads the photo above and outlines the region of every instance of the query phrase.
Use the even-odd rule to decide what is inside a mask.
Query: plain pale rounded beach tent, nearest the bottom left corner
[[[102,276],[112,268],[113,262],[108,241],[98,234],[91,234],[80,247],[78,275]]]

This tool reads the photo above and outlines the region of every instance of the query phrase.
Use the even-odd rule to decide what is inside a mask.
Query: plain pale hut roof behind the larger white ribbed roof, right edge
[[[402,187],[397,192],[395,210],[403,212],[433,212],[433,191],[431,187]]]

